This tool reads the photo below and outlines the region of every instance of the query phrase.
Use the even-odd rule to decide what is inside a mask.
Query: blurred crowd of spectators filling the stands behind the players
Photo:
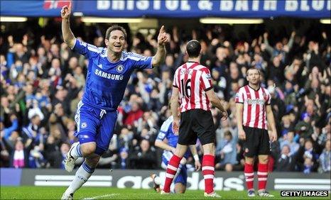
[[[102,28],[75,23],[75,35],[104,45]],[[221,26],[192,32],[167,28],[170,43],[165,62],[132,75],[118,109],[114,137],[98,167],[160,169],[161,150],[153,143],[170,116],[173,74],[188,59],[185,43],[197,39],[202,45],[201,64],[210,68],[214,89],[229,112],[228,120],[221,122],[219,111],[212,109],[217,128],[216,169],[243,170],[234,96],[247,84],[246,70],[254,66],[261,70],[262,86],[272,95],[278,130],[278,141],[271,143],[269,170],[330,172],[331,46],[327,33],[320,31],[315,40],[295,31],[233,40],[225,37]],[[59,32],[60,23],[50,21],[43,28],[27,28],[21,37],[0,36],[1,167],[63,168],[70,145],[77,141],[74,116],[84,92],[87,60],[72,52]],[[156,35],[136,33],[131,38],[128,51],[153,55]],[[198,143],[197,148],[202,155]],[[192,157],[188,163],[194,163]]]

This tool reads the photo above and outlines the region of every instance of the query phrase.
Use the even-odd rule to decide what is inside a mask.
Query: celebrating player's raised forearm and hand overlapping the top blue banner
[[[61,10],[61,17],[62,17],[61,27],[62,27],[63,40],[65,41],[65,43],[67,43],[67,45],[70,48],[73,48],[75,45],[75,35],[70,30],[70,21],[69,21],[70,14],[71,14],[71,2],[69,6],[63,6]]]

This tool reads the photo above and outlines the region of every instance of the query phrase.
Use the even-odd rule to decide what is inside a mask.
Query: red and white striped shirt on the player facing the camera
[[[243,126],[268,129],[266,105],[270,105],[271,95],[267,89],[254,90],[249,85],[241,87],[236,94],[236,103],[244,104]]]

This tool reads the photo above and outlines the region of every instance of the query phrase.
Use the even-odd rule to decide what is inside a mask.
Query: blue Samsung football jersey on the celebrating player
[[[89,60],[82,102],[106,111],[117,109],[135,69],[152,68],[152,57],[122,52],[120,60],[112,62],[107,57],[107,48],[97,48],[77,39],[72,50]]]

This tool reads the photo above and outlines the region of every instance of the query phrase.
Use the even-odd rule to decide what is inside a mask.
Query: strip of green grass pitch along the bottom
[[[65,187],[1,187],[0,199],[60,199]],[[317,197],[281,197],[280,191],[271,191],[275,197],[247,197],[246,191],[217,191],[222,199],[330,199]],[[113,187],[82,187],[75,193],[74,199],[210,199],[204,198],[203,191],[186,191],[185,194],[167,196],[153,189],[117,189]]]

